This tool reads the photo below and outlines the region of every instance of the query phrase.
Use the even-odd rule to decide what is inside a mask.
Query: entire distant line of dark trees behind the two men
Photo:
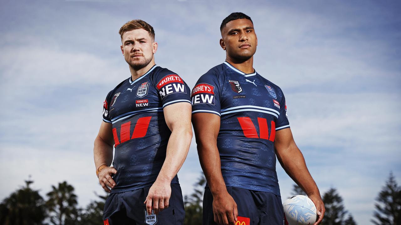
[[[74,187],[66,181],[42,197],[38,190],[29,186],[33,181],[11,193],[0,204],[0,221],[2,225],[99,225],[103,224],[102,215],[108,193],[97,195],[98,200],[91,201],[85,208],[79,208]],[[205,187],[202,174],[194,184],[191,195],[184,196],[185,225],[202,224],[202,199]],[[361,190],[363,191],[363,190]],[[305,195],[304,191],[294,185],[292,195]],[[326,214],[322,225],[356,225],[354,218],[345,207],[342,197],[335,188],[330,188],[322,195]],[[401,225],[401,187],[390,173],[385,186],[379,192],[375,211],[372,215],[375,225]]]

